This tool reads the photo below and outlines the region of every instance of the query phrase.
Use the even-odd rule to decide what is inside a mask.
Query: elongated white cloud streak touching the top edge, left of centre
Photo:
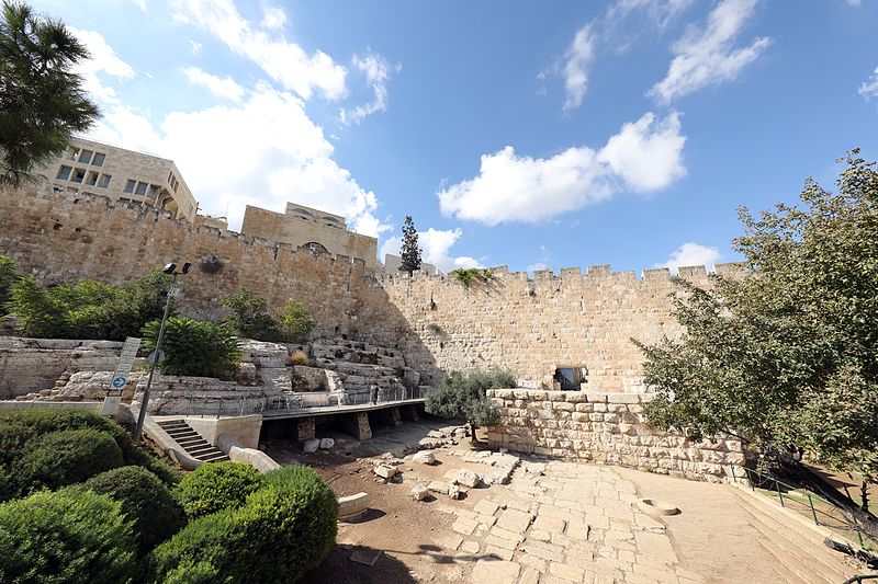
[[[266,27],[264,21],[254,24],[243,18],[233,0],[178,0],[173,7],[178,22],[210,31],[233,51],[256,62],[274,81],[301,98],[309,99],[315,90],[330,100],[345,95],[347,71],[344,67],[322,50],[307,55],[301,46]],[[270,24],[279,19],[277,12],[272,13]]]

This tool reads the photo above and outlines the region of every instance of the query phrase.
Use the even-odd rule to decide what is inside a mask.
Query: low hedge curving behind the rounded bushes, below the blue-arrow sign
[[[31,440],[56,431],[80,428],[97,430],[112,437],[122,450],[124,463],[147,468],[166,484],[179,482],[180,473],[176,469],[135,446],[125,430],[112,420],[87,410],[59,408],[0,412],[0,469],[8,471],[14,462],[22,459]],[[13,495],[12,492],[4,494],[0,488],[0,497]]]

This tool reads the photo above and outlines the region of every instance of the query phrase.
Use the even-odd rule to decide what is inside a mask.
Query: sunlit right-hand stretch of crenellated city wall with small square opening
[[[725,274],[738,270],[717,266]],[[363,302],[361,334],[386,346],[401,343],[407,363],[421,371],[506,367],[551,389],[555,367],[585,367],[584,388],[639,393],[643,356],[631,339],[654,343],[680,333],[666,268],[646,270],[640,279],[606,265],[586,274],[536,272],[532,279],[506,267],[489,272],[469,286],[449,276],[380,276],[362,291],[372,299]],[[679,273],[709,285],[703,266]]]

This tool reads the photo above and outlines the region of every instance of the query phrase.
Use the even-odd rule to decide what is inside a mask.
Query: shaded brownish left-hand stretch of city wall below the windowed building
[[[64,194],[48,187],[0,190],[0,253],[45,285],[90,277],[121,283],[168,262],[191,262],[181,276],[184,313],[221,318],[223,296],[246,286],[282,305],[303,302],[316,334],[350,333],[358,288],[367,267],[338,255],[313,255],[209,226],[193,227],[169,214],[108,197]],[[215,273],[203,260],[218,259]]]

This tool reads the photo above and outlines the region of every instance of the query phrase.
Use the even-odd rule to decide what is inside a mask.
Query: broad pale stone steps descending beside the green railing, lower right
[[[739,497],[751,525],[774,546],[769,551],[802,580],[822,584],[844,582],[853,575],[853,568],[844,563],[842,556],[823,545],[819,533],[786,517],[783,511],[769,507],[769,502],[754,501],[746,493],[739,493]],[[790,561],[795,563],[790,565]]]

